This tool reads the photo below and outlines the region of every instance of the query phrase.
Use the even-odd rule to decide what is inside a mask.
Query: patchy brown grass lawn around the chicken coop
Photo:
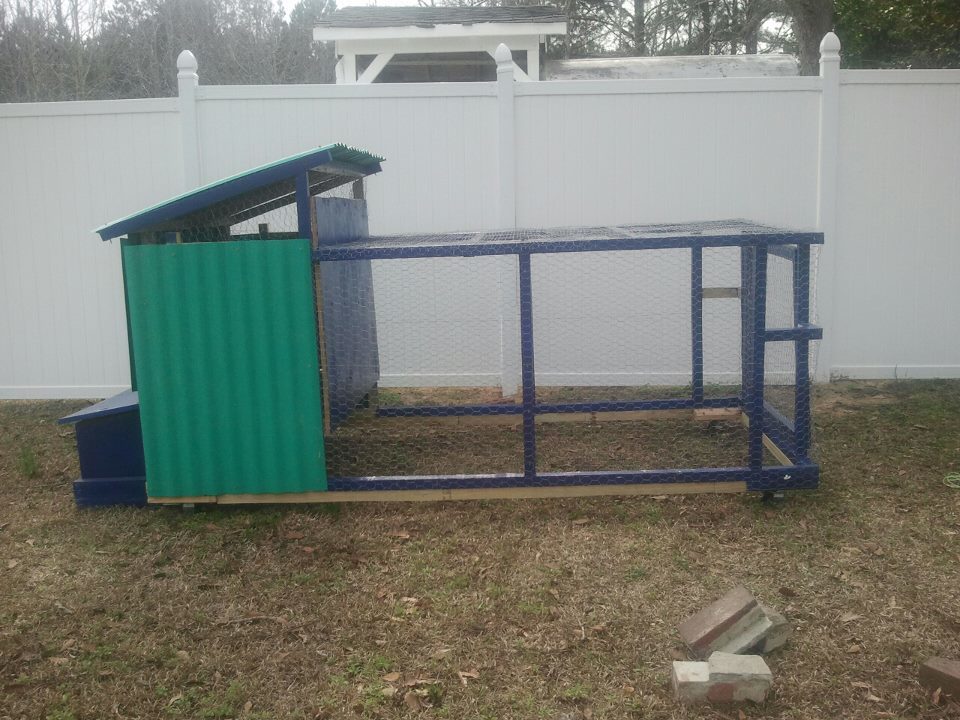
[[[960,383],[821,389],[777,506],[78,512],[84,405],[0,403],[0,718],[960,717],[916,681],[960,658]],[[775,690],[682,708],[677,624],[738,583],[794,624]]]

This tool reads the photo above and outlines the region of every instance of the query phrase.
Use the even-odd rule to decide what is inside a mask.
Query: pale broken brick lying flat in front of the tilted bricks
[[[758,655],[715,652],[706,662],[674,662],[674,697],[685,704],[763,702],[773,675]]]

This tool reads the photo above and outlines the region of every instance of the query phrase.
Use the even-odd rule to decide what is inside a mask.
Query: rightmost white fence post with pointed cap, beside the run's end
[[[840,151],[840,38],[829,32],[820,42],[820,157],[817,172],[817,227],[823,232],[817,283],[817,315],[823,340],[814,378],[829,382],[833,366],[837,282],[837,190]]]

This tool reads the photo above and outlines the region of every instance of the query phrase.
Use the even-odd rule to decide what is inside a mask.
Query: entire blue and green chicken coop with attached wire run
[[[160,504],[817,486],[822,233],[371,235],[365,178],[381,162],[329,145],[97,231],[121,238],[119,406],[143,476],[118,471],[124,492],[84,478],[87,504],[142,497],[131,484]]]

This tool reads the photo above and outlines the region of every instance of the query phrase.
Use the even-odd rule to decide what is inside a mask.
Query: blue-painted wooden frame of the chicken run
[[[649,228],[658,228],[651,231]],[[794,232],[743,221],[699,226],[571,229],[529,233],[473,233],[457,236],[390,236],[320,246],[314,262],[395,260],[432,257],[516,255],[519,270],[519,314],[522,400],[519,404],[387,407],[380,417],[451,417],[520,415],[523,425],[523,473],[480,475],[331,477],[331,491],[444,490],[597,486],[685,482],[746,481],[748,490],[779,491],[815,488],[819,466],[807,456],[810,437],[809,343],[822,337],[809,323],[810,245],[823,234]],[[704,397],[703,248],[739,247],[741,255],[742,389],[735,397]],[[688,398],[662,400],[538,403],[534,372],[534,317],[531,255],[688,248],[690,260],[692,392]],[[767,260],[770,255],[792,263],[794,327],[766,327]],[[796,407],[790,421],[764,400],[764,359],[768,342],[793,342],[796,348]],[[537,471],[536,417],[547,413],[602,413],[629,410],[741,408],[749,419],[748,458],[744,467],[668,470],[543,473]],[[773,442],[793,463],[765,466],[765,442]]]

